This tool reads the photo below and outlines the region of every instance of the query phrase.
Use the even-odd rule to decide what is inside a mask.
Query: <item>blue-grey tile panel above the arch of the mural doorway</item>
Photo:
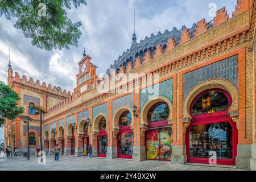
[[[158,93],[152,92],[151,90],[154,90],[155,85],[152,85],[152,88],[144,88],[140,90],[140,102],[141,102],[141,109],[144,106],[144,104],[150,100],[150,98],[155,96],[165,96],[172,102],[172,93],[173,93],[173,80],[172,78],[163,82],[160,82],[159,84],[156,84],[156,87],[159,87]],[[150,90],[148,90],[150,89]]]

